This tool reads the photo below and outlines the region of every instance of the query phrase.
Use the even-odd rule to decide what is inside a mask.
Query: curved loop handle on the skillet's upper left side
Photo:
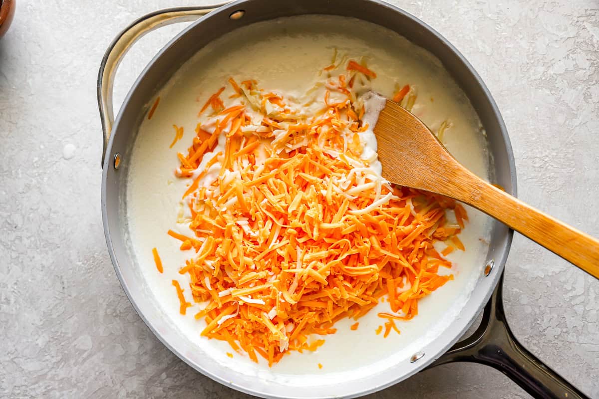
[[[175,7],[165,8],[147,14],[140,19],[135,20],[127,28],[123,29],[108,46],[104,58],[100,63],[98,73],[98,108],[100,110],[100,120],[102,123],[102,134],[104,135],[104,149],[102,150],[102,165],[106,156],[108,140],[114,123],[113,112],[113,85],[114,75],[119,67],[123,56],[129,51],[129,48],[148,32],[161,28],[161,26],[171,25],[178,22],[195,21],[199,17],[216,10],[219,5],[207,7]]]

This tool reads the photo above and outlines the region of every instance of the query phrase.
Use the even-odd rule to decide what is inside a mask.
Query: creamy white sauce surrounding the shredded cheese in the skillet
[[[185,339],[191,340],[205,356],[240,373],[282,383],[317,385],[326,383],[331,376],[341,377],[339,373],[355,373],[352,375],[362,377],[409,357],[434,340],[459,315],[476,284],[488,251],[486,242],[491,226],[488,217],[468,208],[470,223],[460,236],[467,250],[455,251],[448,257],[454,264],[450,272],[455,275],[455,281],[421,300],[415,319],[398,322],[400,335],[392,332],[383,339],[382,334],[374,333],[384,321],[376,313],[389,311],[388,303],[381,303],[359,320],[358,330],[350,331],[349,325],[353,321],[340,321],[335,325],[337,333],[326,336],[325,345],[316,352],[292,352],[270,369],[265,362],[256,367],[249,358],[237,353],[231,360],[226,357],[226,352],[233,352],[227,343],[200,337],[199,331],[205,324],[196,321],[193,315],[201,309],[201,304],[193,304],[187,309],[186,316],[179,314],[179,301],[171,280],[180,281],[184,296],[193,303],[189,279],[178,271],[195,252],[180,251],[180,242],[168,236],[167,230],[189,234],[187,224],[176,223],[186,212],[181,205],[181,195],[189,181],[176,178],[174,170],[179,165],[177,152],[185,152],[195,135],[197,112],[212,93],[227,86],[229,77],[238,82],[256,79],[265,90],[276,90],[285,93],[286,98],[304,100],[305,93],[316,81],[322,80],[319,72],[331,63],[335,48],[338,54],[347,54],[348,60],[366,57],[368,68],[378,75],[373,80],[373,90],[385,96],[391,97],[405,84],[416,87],[418,99],[413,112],[433,131],[449,120],[452,127],[446,130],[443,139],[446,147],[468,169],[488,178],[489,157],[480,121],[440,62],[388,29],[331,16],[292,17],[258,23],[231,32],[199,51],[159,93],[159,106],[152,120],[146,118],[141,124],[130,162],[126,229],[137,267],[153,294],[149,300],[155,301],[156,306],[164,310],[165,318],[170,319]],[[313,106],[316,105],[306,106],[305,112],[314,112]],[[378,112],[366,117],[376,114]],[[174,137],[173,124],[183,126],[184,135],[169,149]],[[367,144],[365,156],[376,152],[373,137],[362,137]],[[219,142],[215,153],[222,151],[222,144]],[[211,156],[204,157],[204,160],[210,159]],[[380,165],[371,166],[380,171]],[[161,255],[163,274],[156,270],[153,247],[158,248]],[[322,363],[322,370],[317,367],[318,363]]]

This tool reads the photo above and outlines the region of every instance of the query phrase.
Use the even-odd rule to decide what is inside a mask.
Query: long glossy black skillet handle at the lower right
[[[588,399],[516,340],[503,310],[502,290],[503,275],[485,307],[479,328],[429,367],[458,361],[486,364],[506,374],[534,398]]]

